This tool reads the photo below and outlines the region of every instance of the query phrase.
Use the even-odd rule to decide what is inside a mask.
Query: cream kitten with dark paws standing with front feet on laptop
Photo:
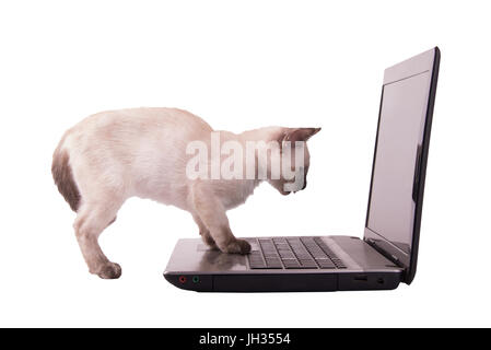
[[[271,164],[287,148],[294,150],[319,130],[267,127],[236,135],[214,131],[203,119],[176,108],[109,110],[89,116],[66,131],[52,155],[51,173],[58,190],[77,212],[73,228],[89,271],[116,279],[121,268],[108,260],[97,241],[128,198],[150,198],[186,210],[208,246],[247,254],[250,245],[233,235],[226,210],[244,203],[264,180],[282,195],[305,188],[309,166],[306,147],[301,153],[302,173],[295,173],[295,177],[304,176],[301,182],[271,176]],[[220,144],[259,142],[260,149],[265,142],[277,141],[280,152],[270,150],[269,161],[258,156],[258,150],[246,158],[242,165],[252,165],[254,178],[191,179],[187,174],[192,168],[188,165],[192,159],[189,144],[199,141],[212,147],[213,133]],[[285,145],[285,141],[292,143]],[[215,160],[207,155],[204,168],[223,159],[223,154]],[[260,178],[259,173],[269,177]],[[290,189],[285,189],[288,186]]]

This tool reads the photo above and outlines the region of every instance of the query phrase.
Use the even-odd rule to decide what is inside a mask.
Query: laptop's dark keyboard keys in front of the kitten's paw
[[[320,237],[249,238],[257,250],[248,255],[252,269],[346,269]]]

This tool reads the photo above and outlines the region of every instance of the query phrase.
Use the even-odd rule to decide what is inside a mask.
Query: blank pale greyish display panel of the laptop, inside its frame
[[[366,228],[411,253],[416,164],[428,108],[431,72],[384,85]]]

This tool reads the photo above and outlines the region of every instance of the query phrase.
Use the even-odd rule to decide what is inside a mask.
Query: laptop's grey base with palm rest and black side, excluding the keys
[[[164,277],[179,289],[197,292],[393,290],[402,281],[402,268],[358,237],[316,238],[322,238],[346,268],[252,269],[247,256],[211,250],[195,238],[178,241]]]

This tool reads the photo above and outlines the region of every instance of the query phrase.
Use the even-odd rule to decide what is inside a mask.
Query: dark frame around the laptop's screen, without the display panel
[[[369,206],[366,210],[365,219],[365,232],[364,241],[371,244],[378,252],[384,254],[387,258],[393,260],[398,266],[405,268],[404,282],[411,283],[416,275],[417,262],[418,262],[418,247],[420,237],[420,226],[421,226],[421,212],[423,206],[423,194],[424,194],[424,180],[426,175],[426,163],[428,163],[428,151],[430,147],[430,133],[431,125],[433,119],[434,100],[436,94],[436,83],[439,79],[439,67],[440,67],[440,49],[437,47],[410,58],[401,63],[387,68],[384,73],[384,83],[382,86],[382,97],[378,110],[378,121],[377,121],[377,133],[375,139],[375,151],[373,155],[372,163],[372,177],[370,182],[370,194],[369,194]],[[421,137],[421,153],[420,156],[414,160],[417,170],[414,172],[414,178],[418,179],[418,187],[416,191],[416,208],[414,208],[414,221],[412,230],[412,244],[410,254],[402,252],[391,242],[387,241],[385,237],[378,235],[369,228],[369,217],[370,217],[370,205],[372,200],[372,186],[373,176],[375,172],[375,161],[378,144],[378,131],[381,127],[381,113],[384,102],[384,86],[413,75],[421,74],[423,72],[429,72],[431,81],[429,84],[429,92],[426,98],[426,114],[424,120],[423,135]]]

